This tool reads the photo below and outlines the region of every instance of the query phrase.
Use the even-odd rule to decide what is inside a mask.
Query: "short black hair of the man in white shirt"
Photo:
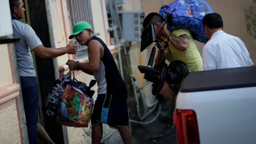
[[[213,28],[222,28],[223,20],[220,14],[210,13],[206,14],[203,18],[203,26],[207,26],[210,29]]]

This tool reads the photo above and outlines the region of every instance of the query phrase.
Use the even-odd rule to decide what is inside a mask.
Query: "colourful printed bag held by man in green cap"
[[[96,81],[91,81],[89,86],[78,81],[66,83],[67,87],[62,94],[58,109],[57,122],[65,126],[88,127],[94,105],[92,98],[94,91],[90,88]]]

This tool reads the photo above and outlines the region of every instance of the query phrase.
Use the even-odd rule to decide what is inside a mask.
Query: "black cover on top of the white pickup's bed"
[[[256,66],[192,72],[182,81],[180,92],[251,86],[256,86]]]

